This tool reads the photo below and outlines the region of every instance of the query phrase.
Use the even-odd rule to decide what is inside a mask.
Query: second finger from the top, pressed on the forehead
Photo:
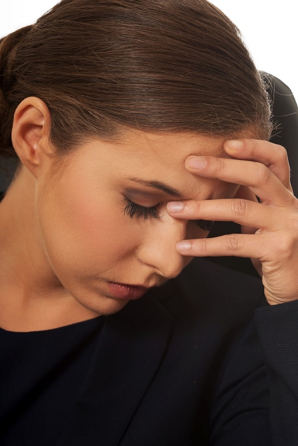
[[[287,206],[293,197],[281,181],[259,162],[215,156],[189,156],[185,166],[189,172],[200,177],[217,178],[227,183],[247,186],[267,205]]]

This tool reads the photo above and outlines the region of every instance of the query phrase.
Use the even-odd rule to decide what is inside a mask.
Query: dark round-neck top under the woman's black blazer
[[[44,331],[0,328],[2,446],[56,444],[87,375],[103,319]]]

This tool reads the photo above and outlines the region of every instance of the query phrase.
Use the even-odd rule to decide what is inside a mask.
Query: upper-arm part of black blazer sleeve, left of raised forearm
[[[224,361],[211,407],[209,445],[270,446],[269,385],[254,321]]]

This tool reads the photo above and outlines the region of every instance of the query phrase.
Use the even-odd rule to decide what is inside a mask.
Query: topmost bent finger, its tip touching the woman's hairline
[[[259,139],[229,140],[224,143],[224,150],[233,158],[264,164],[292,191],[287,150],[281,145]]]

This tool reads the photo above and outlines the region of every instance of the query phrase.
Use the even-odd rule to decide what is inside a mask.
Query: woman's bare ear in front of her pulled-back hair
[[[50,153],[51,115],[46,104],[39,98],[24,99],[14,113],[11,139],[22,164],[34,177]]]

